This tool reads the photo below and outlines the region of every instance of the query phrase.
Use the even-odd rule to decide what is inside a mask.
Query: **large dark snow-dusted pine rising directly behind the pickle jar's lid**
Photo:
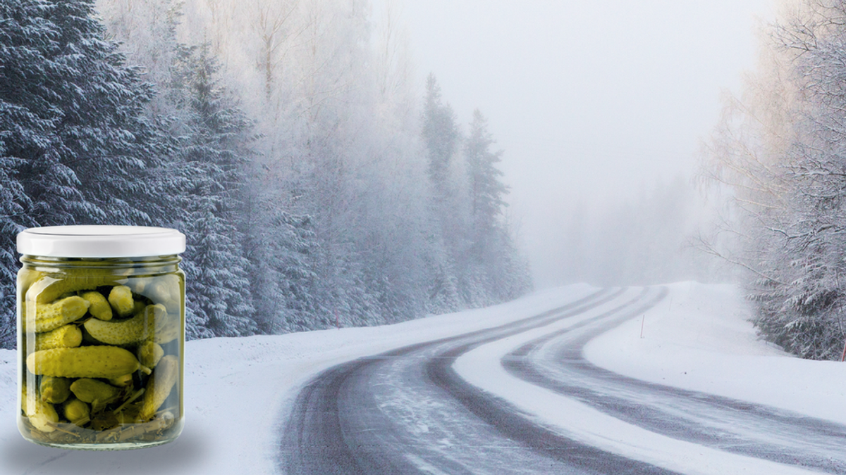
[[[56,36],[30,44],[41,52],[47,74],[26,78],[29,84],[19,86],[32,96],[19,97],[55,122],[54,141],[44,153],[30,150],[22,170],[32,216],[42,226],[151,223],[158,217],[151,172],[162,156],[161,130],[143,115],[151,85],[105,40],[93,2],[39,3],[38,20]]]

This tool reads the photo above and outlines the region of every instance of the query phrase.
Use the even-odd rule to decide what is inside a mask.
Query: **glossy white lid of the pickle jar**
[[[45,257],[151,257],[179,254],[185,235],[145,226],[30,227],[18,234],[18,252]]]

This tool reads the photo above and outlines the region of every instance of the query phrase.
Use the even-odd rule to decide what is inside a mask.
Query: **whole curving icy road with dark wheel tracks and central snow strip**
[[[528,319],[343,363],[299,392],[294,474],[846,473],[846,427],[646,383],[583,358],[664,288],[603,290]]]

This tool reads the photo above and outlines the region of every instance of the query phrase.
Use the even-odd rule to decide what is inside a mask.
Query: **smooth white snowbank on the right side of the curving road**
[[[846,423],[846,363],[794,358],[761,341],[737,287],[668,287],[644,317],[591,341],[585,358],[637,379]]]

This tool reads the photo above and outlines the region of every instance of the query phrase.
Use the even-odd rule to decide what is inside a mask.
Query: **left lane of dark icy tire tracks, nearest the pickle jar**
[[[391,365],[411,362],[421,366],[420,379],[410,383],[419,387],[412,389],[431,391],[431,386],[435,385],[435,389],[446,392],[441,392],[442,399],[443,396],[453,399],[449,401],[450,398],[446,398],[441,404],[449,409],[448,416],[458,422],[432,418],[432,425],[452,423],[452,429],[461,430],[478,423],[478,420],[471,419],[481,418],[493,429],[492,434],[498,437],[499,445],[477,445],[476,450],[485,450],[484,460],[482,457],[476,459],[480,464],[491,463],[488,457],[508,452],[530,458],[533,463],[541,459],[540,463],[549,467],[549,471],[545,472],[671,473],[554,434],[531,423],[507,402],[467,385],[451,368],[452,362],[463,352],[486,342],[550,325],[559,319],[585,314],[613,301],[623,292],[622,289],[618,292],[596,292],[529,319],[403,347],[328,369],[306,385],[296,398],[280,445],[279,468],[289,474],[321,475],[431,473],[438,470],[454,474],[484,472],[481,465],[466,460],[466,450],[460,453],[453,451],[453,454],[459,455],[451,456],[443,450],[432,449],[430,442],[430,446],[420,449],[420,453],[407,453],[415,449],[415,444],[382,413],[375,394],[380,385],[380,371],[391,369]],[[636,300],[628,304],[634,304]],[[464,412],[469,411],[473,416],[468,417],[469,414],[462,413],[455,406],[464,408]],[[490,428],[480,428],[485,433],[484,437],[490,437]],[[497,473],[525,472],[519,466],[510,466],[515,461],[513,458],[501,458]]]

